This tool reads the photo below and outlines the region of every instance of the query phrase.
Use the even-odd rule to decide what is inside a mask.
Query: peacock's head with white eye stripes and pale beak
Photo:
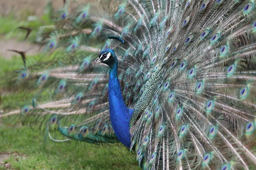
[[[116,57],[114,50],[109,49],[109,48],[102,50],[99,54],[99,57],[93,62],[93,65],[95,65],[96,63],[99,63],[99,62],[103,62],[104,64],[106,64],[108,66],[117,64],[117,57]]]

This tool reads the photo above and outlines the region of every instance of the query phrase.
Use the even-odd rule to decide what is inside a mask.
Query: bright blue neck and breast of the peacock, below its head
[[[109,65],[109,68],[108,102],[111,124],[117,139],[126,147],[130,147],[131,135],[129,131],[129,122],[134,110],[127,108],[123,101],[121,87],[117,76],[117,59],[113,65]]]

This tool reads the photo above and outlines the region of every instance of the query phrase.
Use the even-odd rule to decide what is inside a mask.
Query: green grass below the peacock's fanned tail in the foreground
[[[4,163],[10,163],[15,170],[139,169],[134,156],[124,147],[76,141],[44,143],[44,133],[26,126],[2,126],[0,141],[0,157],[8,153],[10,157]],[[0,170],[4,169],[0,165]]]

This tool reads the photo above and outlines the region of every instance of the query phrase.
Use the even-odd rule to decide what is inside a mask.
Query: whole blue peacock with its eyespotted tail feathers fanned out
[[[53,16],[41,60],[1,78],[2,96],[35,94],[2,119],[121,142],[144,170],[256,167],[255,0],[66,0]]]

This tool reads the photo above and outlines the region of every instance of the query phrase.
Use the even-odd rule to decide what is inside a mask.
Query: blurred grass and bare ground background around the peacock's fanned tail
[[[38,60],[37,28],[51,26],[52,13],[61,6],[63,0],[0,0],[0,78],[4,79],[7,72],[23,67],[20,55],[8,51],[10,49],[26,51],[28,59]],[[26,31],[18,27],[29,27],[34,31],[24,41]],[[0,98],[0,114],[9,109],[10,102],[33,95],[22,94],[20,98],[5,95]],[[121,144],[106,147],[76,141],[44,141],[44,129],[23,126],[16,123],[16,119],[18,115],[0,118],[0,170],[139,169],[134,155]]]

